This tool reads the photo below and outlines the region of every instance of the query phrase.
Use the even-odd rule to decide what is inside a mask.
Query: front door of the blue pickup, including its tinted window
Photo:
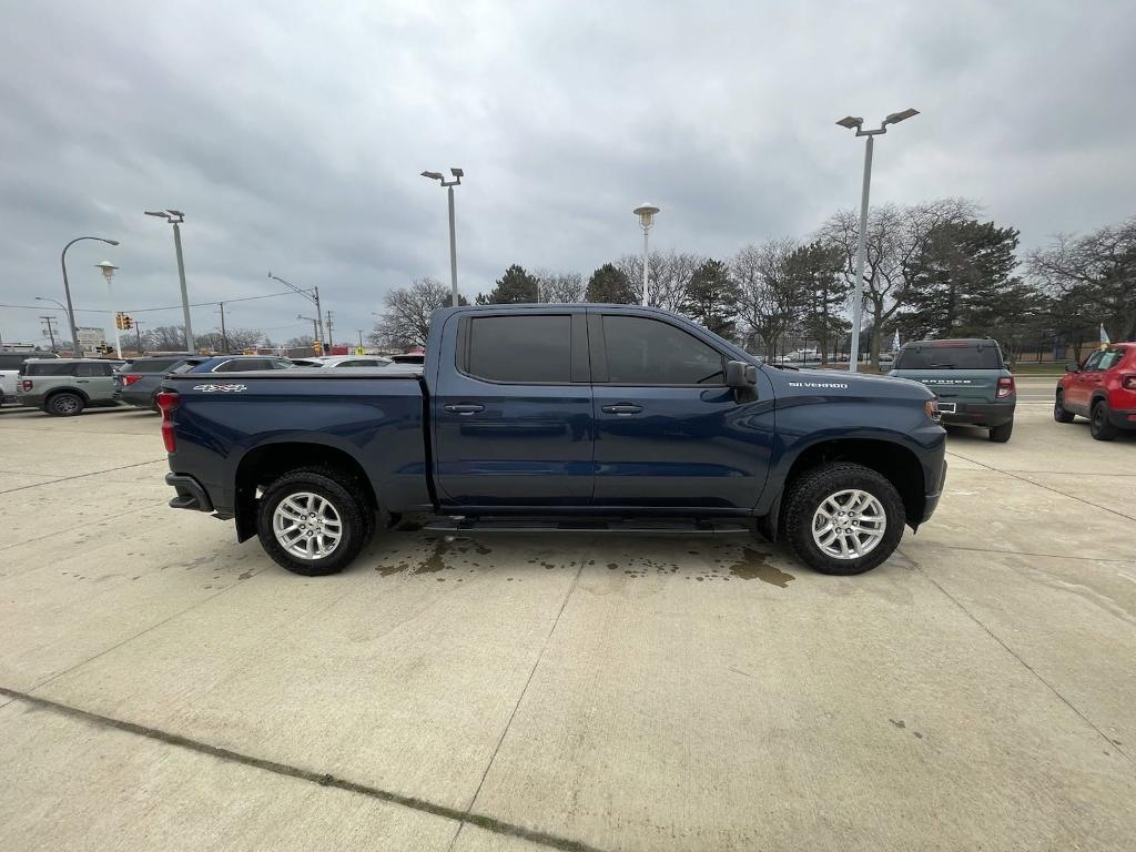
[[[595,506],[751,509],[769,470],[772,389],[726,386],[726,354],[668,319],[588,315]]]

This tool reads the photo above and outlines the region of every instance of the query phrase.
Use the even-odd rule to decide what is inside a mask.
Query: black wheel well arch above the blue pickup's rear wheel
[[[284,442],[250,450],[236,466],[236,535],[240,541],[257,532],[257,488],[302,467],[324,467],[356,479],[373,509],[378,499],[362,465],[349,453],[326,444]]]

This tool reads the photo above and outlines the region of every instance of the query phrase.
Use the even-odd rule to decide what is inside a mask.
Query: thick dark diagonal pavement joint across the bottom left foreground
[[[126,734],[145,737],[147,740],[153,740],[165,743],[166,745],[173,745],[178,749],[197,752],[198,754],[204,754],[218,760],[239,763],[252,769],[260,769],[285,778],[295,778],[310,784],[317,784],[321,787],[333,787],[348,793],[356,793],[358,795],[375,799],[389,804],[409,808],[410,810],[419,811],[421,813],[429,813],[443,819],[456,820],[459,824],[469,822],[470,825],[475,825],[486,832],[492,832],[508,837],[517,837],[548,849],[562,850],[562,852],[603,852],[596,846],[591,846],[579,841],[560,837],[548,832],[537,832],[532,828],[525,828],[524,826],[507,822],[484,813],[473,813],[468,810],[462,811],[458,808],[437,804],[436,802],[431,802],[429,800],[420,799],[418,796],[395,793],[393,791],[383,790],[382,787],[374,787],[368,784],[352,782],[346,778],[339,778],[329,772],[318,772],[311,769],[293,766],[291,763],[282,763],[276,760],[268,760],[267,758],[258,758],[253,754],[234,751],[220,745],[211,745],[210,743],[201,740],[182,736],[181,734],[173,734],[167,730],[161,730],[160,728],[151,728],[145,725],[139,725],[123,719],[115,719],[114,717],[94,713],[90,710],[72,707],[70,704],[64,704],[58,701],[51,701],[50,699],[30,695],[27,693],[19,692],[18,690],[10,690],[6,686],[0,686],[0,695],[6,695],[12,701],[32,704],[41,710],[48,710],[60,716],[78,719],[98,727],[120,730]]]

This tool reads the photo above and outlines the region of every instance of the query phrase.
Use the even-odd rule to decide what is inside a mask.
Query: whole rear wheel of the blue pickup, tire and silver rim
[[[374,531],[374,512],[358,483],[328,468],[301,468],[267,488],[257,512],[260,544],[293,574],[342,571]]]

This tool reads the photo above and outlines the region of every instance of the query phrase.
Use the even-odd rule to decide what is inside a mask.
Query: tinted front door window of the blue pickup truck
[[[608,314],[603,317],[608,383],[619,385],[720,385],[721,354],[669,323]]]

